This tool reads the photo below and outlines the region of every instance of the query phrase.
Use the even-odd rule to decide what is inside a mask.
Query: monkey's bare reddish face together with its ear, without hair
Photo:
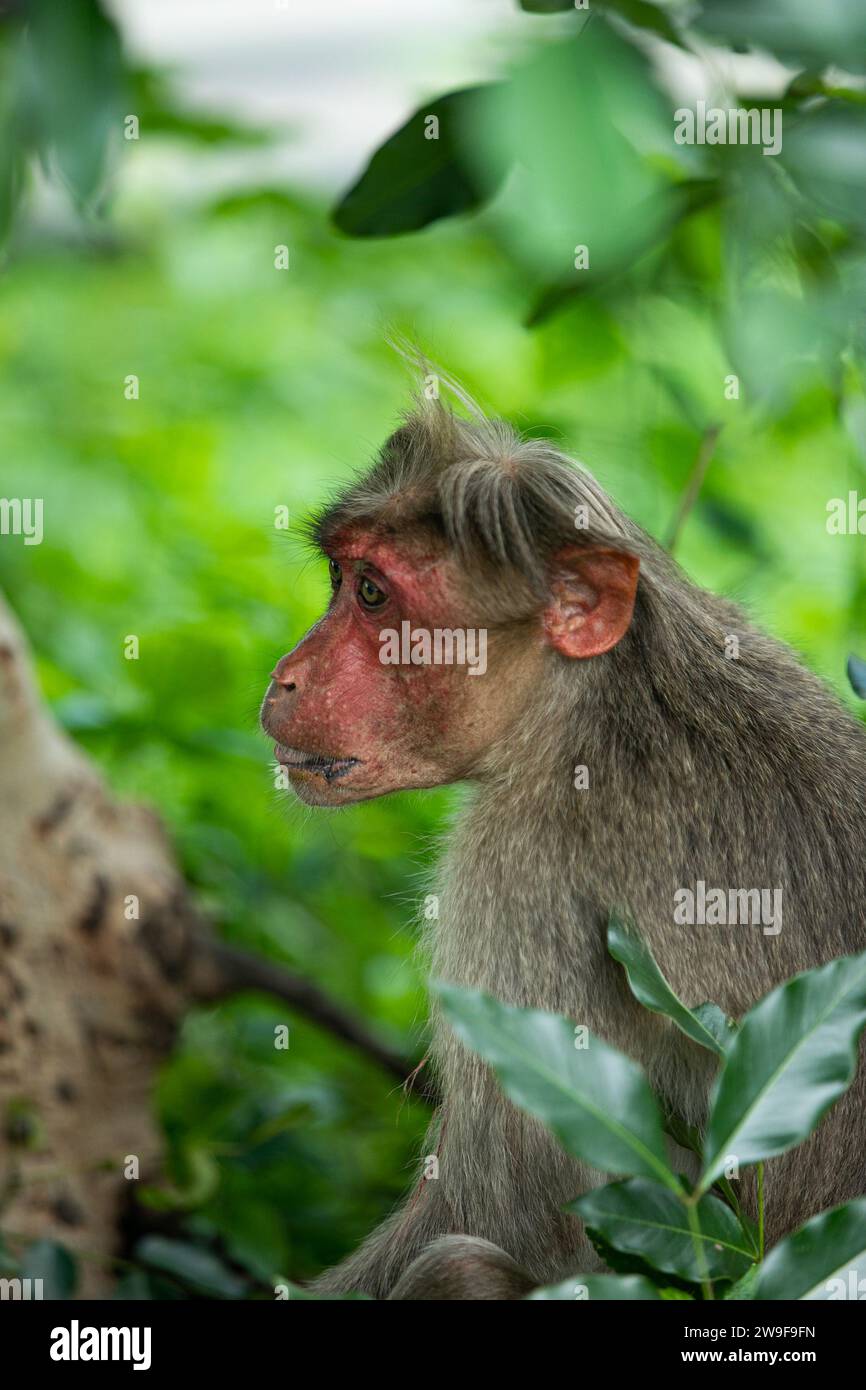
[[[481,774],[534,705],[545,663],[620,641],[638,575],[634,556],[567,546],[546,603],[512,603],[503,619],[507,575],[485,587],[420,532],[348,525],[327,559],[328,610],[278,662],[261,709],[293,791],[318,806]]]

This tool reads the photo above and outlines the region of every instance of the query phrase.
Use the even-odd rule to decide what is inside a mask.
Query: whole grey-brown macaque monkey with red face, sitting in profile
[[[634,999],[609,915],[634,920],[685,1004],[734,1017],[865,949],[866,731],[585,470],[461,399],[470,418],[421,402],[316,517],[331,602],[278,662],[263,726],[313,806],[464,783],[434,977],[585,1024],[701,1125],[713,1058]],[[416,659],[385,659],[405,623]],[[484,632],[484,673],[430,659],[418,632]],[[699,883],[763,890],[773,920],[677,920]],[[562,1207],[609,1175],[516,1109],[435,1008],[431,1054],[439,1176],[314,1287],[521,1298],[598,1269]],[[767,1163],[767,1236],[865,1190],[860,1066],[816,1134]]]

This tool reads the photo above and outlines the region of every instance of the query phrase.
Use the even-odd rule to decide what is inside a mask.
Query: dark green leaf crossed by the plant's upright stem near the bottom
[[[626,1183],[596,1187],[566,1211],[599,1232],[616,1250],[639,1255],[653,1269],[698,1283],[695,1237],[684,1201],[667,1187],[632,1177]],[[696,1205],[701,1225],[703,1268],[709,1279],[738,1279],[752,1262],[734,1212],[717,1197],[703,1197]]]

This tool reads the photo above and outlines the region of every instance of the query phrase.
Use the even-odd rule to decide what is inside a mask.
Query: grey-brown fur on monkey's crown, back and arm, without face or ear
[[[591,524],[580,531],[582,502]],[[606,951],[609,912],[634,916],[687,1004],[713,999],[734,1016],[796,972],[865,949],[862,726],[790,649],[691,584],[594,478],[500,423],[423,409],[316,534],[325,541],[352,517],[393,531],[420,518],[442,535],[484,577],[477,603],[491,626],[538,612],[562,545],[639,556],[623,641],[591,660],[549,649],[538,699],[474,770],[438,870],[441,913],[427,945],[434,977],[588,1024],[699,1123],[712,1059],[634,1001]],[[731,632],[738,660],[724,656]],[[589,769],[588,791],[573,787],[578,763]],[[699,878],[781,887],[781,933],[676,926],[674,891]],[[438,1148],[439,1179],[421,1182],[318,1287],[386,1297],[449,1233],[495,1243],[537,1282],[598,1268],[560,1207],[605,1175],[566,1158],[506,1102],[435,1012],[432,1054],[443,1105],[425,1152]],[[770,1240],[866,1190],[865,1102],[860,1068],[817,1134],[767,1165]],[[425,1269],[441,1287],[430,1259]],[[416,1291],[406,1297],[425,1297],[424,1279],[407,1287]]]

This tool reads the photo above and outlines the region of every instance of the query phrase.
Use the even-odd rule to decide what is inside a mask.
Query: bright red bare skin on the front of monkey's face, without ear
[[[406,619],[430,630],[466,623],[449,562],[417,542],[386,543],[357,530],[339,538],[331,559],[342,582],[324,617],[279,660],[261,721],[282,748],[357,762],[334,780],[286,764],[293,791],[311,805],[339,806],[466,776],[481,751],[473,746],[471,687],[484,677],[379,660],[379,632],[400,631]],[[364,577],[386,595],[375,610],[359,600]]]

